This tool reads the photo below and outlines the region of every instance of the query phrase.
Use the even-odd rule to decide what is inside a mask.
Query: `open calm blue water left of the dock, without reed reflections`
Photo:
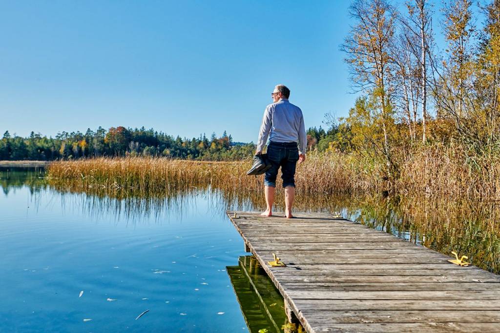
[[[206,193],[146,206],[1,184],[0,332],[247,332],[225,272],[242,241]]]

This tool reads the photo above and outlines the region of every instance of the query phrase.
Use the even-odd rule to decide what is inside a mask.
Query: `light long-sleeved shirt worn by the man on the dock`
[[[298,153],[305,154],[307,137],[302,110],[287,98],[267,105],[258,132],[257,151],[262,151],[267,137],[274,142],[297,142]]]

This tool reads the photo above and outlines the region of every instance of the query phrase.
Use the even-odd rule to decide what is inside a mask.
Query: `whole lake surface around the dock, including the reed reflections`
[[[261,272],[245,280],[243,243],[225,216],[262,208],[262,196],[77,193],[43,176],[0,167],[0,332],[280,332],[282,312],[265,315],[279,313],[279,296]],[[495,203],[324,196],[297,198],[296,209],[339,211],[500,271]],[[261,298],[250,285],[263,286]]]

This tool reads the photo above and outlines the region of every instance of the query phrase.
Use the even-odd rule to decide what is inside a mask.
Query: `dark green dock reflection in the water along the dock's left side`
[[[255,258],[239,257],[239,266],[226,267],[250,333],[266,329],[280,333],[287,322],[283,298]]]

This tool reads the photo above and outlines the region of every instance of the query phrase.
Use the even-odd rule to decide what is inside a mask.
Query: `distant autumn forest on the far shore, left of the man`
[[[96,156],[163,156],[194,160],[237,160],[253,154],[253,143],[232,142],[226,131],[209,138],[173,137],[154,129],[99,127],[96,131],[61,132],[55,138],[31,132],[29,137],[11,136],[0,140],[0,160],[56,160]]]

